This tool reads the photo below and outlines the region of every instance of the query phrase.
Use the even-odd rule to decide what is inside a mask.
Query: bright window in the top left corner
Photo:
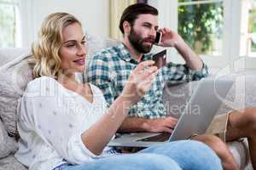
[[[20,46],[18,6],[15,0],[0,0],[0,48]]]

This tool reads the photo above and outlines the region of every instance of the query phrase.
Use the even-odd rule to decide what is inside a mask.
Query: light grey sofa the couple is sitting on
[[[118,43],[112,39],[90,35],[87,42],[89,56],[86,62],[90,62],[90,56],[101,48]],[[30,57],[29,48],[0,48],[0,170],[27,169],[15,159],[14,154],[18,149],[17,140],[19,139],[15,123],[17,121],[17,107],[19,107],[19,100],[26,89],[27,82],[32,80],[32,70],[27,63]],[[83,74],[78,75],[81,81],[84,81]],[[240,75],[234,74],[230,75],[230,77],[240,77]],[[256,105],[256,98],[254,97],[256,96],[256,91],[254,90],[256,88],[256,77],[244,77],[244,79],[239,79],[234,84],[227,96],[227,103],[223,103],[218,110],[218,114]],[[167,83],[164,95],[166,105],[177,105],[177,107],[186,105],[197,84],[198,82],[179,85]],[[245,84],[247,88],[243,90],[242,88]],[[241,101],[242,99],[244,101]],[[170,115],[178,117],[179,113],[171,112]],[[253,169],[246,139],[230,142],[228,145],[241,169]]]

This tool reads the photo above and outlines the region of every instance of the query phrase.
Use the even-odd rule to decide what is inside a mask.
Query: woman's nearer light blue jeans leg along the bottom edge
[[[182,170],[168,156],[137,153],[109,156],[96,161],[86,162],[78,166],[67,166],[65,170]]]

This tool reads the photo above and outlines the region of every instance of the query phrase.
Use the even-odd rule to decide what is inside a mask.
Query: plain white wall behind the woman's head
[[[74,14],[83,24],[84,31],[101,37],[109,35],[109,5],[106,0],[23,0],[21,22],[23,45],[30,46],[36,39],[38,29],[44,18],[53,12]]]

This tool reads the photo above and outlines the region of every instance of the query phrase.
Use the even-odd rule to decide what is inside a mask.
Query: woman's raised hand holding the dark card
[[[121,98],[134,105],[146,94],[152,82],[154,82],[154,77],[158,74],[157,67],[152,65],[154,65],[153,60],[143,61],[131,71],[125,88],[120,95]]]

